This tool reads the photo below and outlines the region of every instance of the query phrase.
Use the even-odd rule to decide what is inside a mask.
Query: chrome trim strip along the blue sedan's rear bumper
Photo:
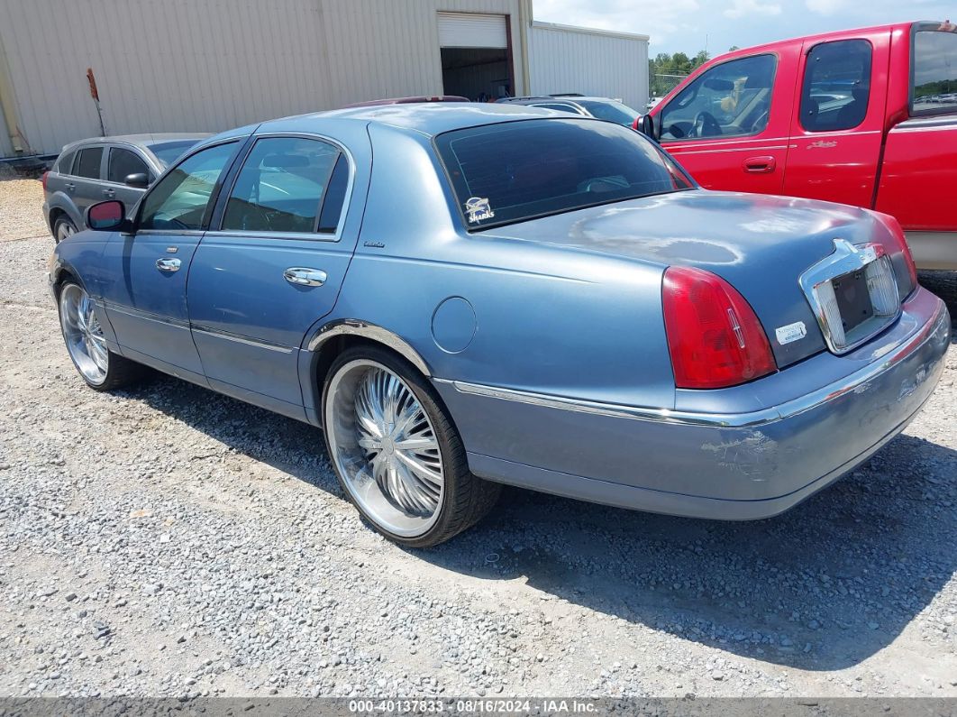
[[[946,306],[939,302],[934,316],[908,339],[887,352],[879,361],[857,370],[821,389],[794,398],[775,408],[752,411],[745,414],[704,414],[690,411],[672,411],[669,409],[644,408],[640,406],[621,406],[612,403],[588,401],[568,396],[545,393],[516,391],[495,386],[436,378],[435,381],[451,384],[457,392],[498,398],[504,401],[516,401],[532,406],[574,411],[583,414],[606,415],[612,418],[630,418],[633,420],[675,423],[680,425],[706,426],[713,428],[748,428],[790,418],[829,403],[845,393],[854,392],[860,386],[873,381],[881,373],[893,369],[910,356],[924,343],[932,341],[941,332],[949,330]]]

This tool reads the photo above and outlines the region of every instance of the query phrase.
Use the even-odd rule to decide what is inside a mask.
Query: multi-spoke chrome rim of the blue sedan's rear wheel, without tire
[[[357,359],[329,382],[325,431],[352,499],[379,527],[422,535],[438,518],[445,474],[432,421],[409,385]]]

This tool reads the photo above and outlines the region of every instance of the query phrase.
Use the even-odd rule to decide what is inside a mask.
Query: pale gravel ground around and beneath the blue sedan
[[[509,490],[409,551],[315,429],[160,376],[85,389],[51,246],[0,243],[0,694],[957,696],[957,345],[904,435],[779,518]]]

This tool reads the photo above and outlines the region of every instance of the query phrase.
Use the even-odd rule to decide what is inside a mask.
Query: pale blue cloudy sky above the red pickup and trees
[[[650,34],[650,55],[732,45],[902,20],[957,22],[957,3],[937,0],[533,0],[536,20]]]

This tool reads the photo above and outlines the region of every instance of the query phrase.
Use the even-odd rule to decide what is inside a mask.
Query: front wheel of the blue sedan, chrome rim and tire
[[[145,367],[106,347],[96,306],[82,286],[75,281],[63,283],[56,305],[63,342],[87,386],[112,391],[143,378]]]

